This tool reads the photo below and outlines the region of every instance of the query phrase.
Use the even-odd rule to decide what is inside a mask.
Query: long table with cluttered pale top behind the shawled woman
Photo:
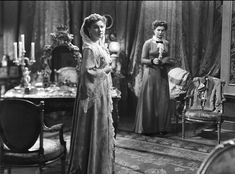
[[[29,93],[25,93],[25,88],[16,86],[8,90],[2,98],[22,98],[30,100],[34,103],[39,103],[41,100],[45,102],[45,113],[54,111],[73,111],[74,101],[77,94],[77,87],[70,86],[55,86],[52,85],[47,88],[33,87]],[[115,128],[115,135],[118,129],[119,114],[118,102],[121,98],[121,92],[114,88],[112,91],[113,99],[113,125]]]

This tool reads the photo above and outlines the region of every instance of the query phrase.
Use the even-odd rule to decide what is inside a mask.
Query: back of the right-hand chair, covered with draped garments
[[[212,76],[194,77],[186,94],[187,108],[222,112],[223,83]]]

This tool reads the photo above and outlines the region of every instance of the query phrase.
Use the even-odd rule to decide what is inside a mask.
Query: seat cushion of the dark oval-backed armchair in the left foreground
[[[51,161],[58,158],[64,153],[65,148],[60,144],[58,139],[43,139],[44,159],[39,158],[38,152],[32,153],[5,153],[4,159],[8,164],[15,165],[32,165],[40,162]],[[39,149],[39,139],[29,151]]]

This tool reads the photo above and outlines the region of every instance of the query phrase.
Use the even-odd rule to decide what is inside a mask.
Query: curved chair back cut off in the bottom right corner
[[[202,162],[197,174],[234,174],[235,139],[217,145]]]

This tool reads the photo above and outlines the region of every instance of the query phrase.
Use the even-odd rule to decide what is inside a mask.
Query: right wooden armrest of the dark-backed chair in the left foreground
[[[43,131],[48,133],[59,132],[59,139],[62,145],[65,145],[66,142],[64,141],[64,125],[62,123],[53,125],[51,127],[47,127],[45,124],[43,125]]]

